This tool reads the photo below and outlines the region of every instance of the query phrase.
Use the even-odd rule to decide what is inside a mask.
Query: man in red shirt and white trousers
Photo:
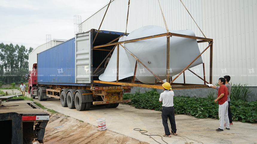
[[[218,101],[219,104],[219,121],[220,127],[216,129],[216,131],[223,131],[224,129],[224,119],[226,121],[226,129],[230,130],[229,119],[228,119],[228,102],[227,102],[227,95],[228,90],[227,87],[224,85],[226,80],[224,78],[219,78],[218,84],[220,88],[218,90],[218,98],[214,100],[216,103]]]

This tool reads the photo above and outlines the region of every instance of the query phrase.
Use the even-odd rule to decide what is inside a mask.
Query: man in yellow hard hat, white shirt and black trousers
[[[160,94],[159,101],[162,102],[162,124],[164,126],[165,135],[163,137],[171,137],[168,126],[168,118],[172,129],[172,134],[177,135],[176,123],[175,123],[175,113],[173,109],[173,96],[174,92],[171,89],[169,82],[162,84],[164,92]]]

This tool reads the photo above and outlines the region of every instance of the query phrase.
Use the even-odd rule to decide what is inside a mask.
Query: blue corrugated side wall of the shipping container
[[[75,83],[74,41],[72,38],[38,54],[38,84]]]

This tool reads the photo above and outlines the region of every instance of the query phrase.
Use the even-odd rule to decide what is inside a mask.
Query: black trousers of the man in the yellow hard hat
[[[172,131],[174,133],[177,132],[173,107],[162,107],[161,118],[162,118],[162,124],[164,126],[164,131],[165,131],[166,135],[170,135],[169,126],[168,126],[168,118],[169,118],[169,122],[170,122]]]

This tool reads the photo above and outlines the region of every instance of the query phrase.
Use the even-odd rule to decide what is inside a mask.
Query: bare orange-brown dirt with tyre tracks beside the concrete
[[[61,113],[50,114],[43,142],[44,144],[148,144],[108,129],[99,131],[94,125],[79,122]]]

